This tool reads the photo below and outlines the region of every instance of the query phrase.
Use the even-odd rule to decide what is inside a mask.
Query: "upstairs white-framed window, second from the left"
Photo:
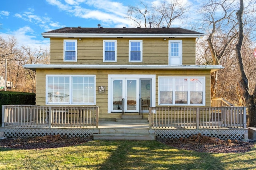
[[[103,40],[103,61],[116,62],[116,40]]]

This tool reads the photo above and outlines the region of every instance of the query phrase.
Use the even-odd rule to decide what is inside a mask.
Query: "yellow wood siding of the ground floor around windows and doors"
[[[46,74],[92,74],[96,75],[96,106],[100,106],[100,118],[109,118],[108,113],[108,74],[155,74],[156,106],[158,106],[158,76],[205,76],[206,106],[210,107],[210,70],[36,70],[36,105],[46,105]],[[105,94],[98,94],[98,86],[106,86]]]

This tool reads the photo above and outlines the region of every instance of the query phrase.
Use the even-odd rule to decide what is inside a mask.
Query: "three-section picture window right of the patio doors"
[[[159,77],[159,105],[204,105],[204,77]]]

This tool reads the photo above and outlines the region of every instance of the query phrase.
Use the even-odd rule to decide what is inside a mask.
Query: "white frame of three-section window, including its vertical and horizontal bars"
[[[160,89],[160,79],[161,78],[171,78],[172,79],[172,103],[171,104],[161,104],[160,100],[161,100],[161,96],[160,96],[160,92],[165,92],[165,91],[161,91]],[[202,91],[196,91],[196,92],[202,92],[202,104],[191,104],[190,103],[190,100],[192,98],[190,98],[190,93],[191,92],[195,92],[195,91],[192,91],[192,83],[190,83],[190,81],[187,81],[187,90],[186,91],[181,91],[181,90],[176,90],[176,87],[175,87],[175,83],[176,83],[176,79],[179,79],[179,78],[182,78],[182,79],[202,79]],[[159,76],[158,77],[158,105],[159,106],[205,106],[205,88],[206,88],[206,85],[205,85],[205,77],[204,76]],[[168,91],[169,92],[169,91]],[[186,104],[176,104],[175,103],[175,92],[187,92],[187,103]]]

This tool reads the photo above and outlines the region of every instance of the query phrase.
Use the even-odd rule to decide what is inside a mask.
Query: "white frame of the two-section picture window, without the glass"
[[[48,77],[69,77],[69,102],[49,102],[48,101]],[[94,78],[94,102],[73,102],[73,79],[72,77],[93,77]],[[87,75],[87,74],[46,74],[46,105],[96,105],[96,75]]]

